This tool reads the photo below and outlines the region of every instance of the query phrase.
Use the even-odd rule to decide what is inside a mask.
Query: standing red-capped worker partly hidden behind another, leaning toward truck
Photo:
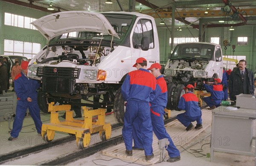
[[[174,145],[172,138],[166,132],[166,128],[164,127],[163,115],[165,114],[164,108],[167,104],[167,86],[166,81],[161,74],[161,65],[159,63],[154,63],[148,68],[153,76],[157,79],[157,87],[155,90],[156,95],[151,98],[151,121],[153,132],[157,136],[159,140],[163,138],[167,138],[169,141],[169,145],[167,147],[167,152],[170,158],[167,160],[168,162],[175,162],[180,160],[180,152]],[[137,120],[137,119],[136,119]],[[133,138],[134,138],[134,150],[144,150],[142,143],[142,136],[140,132],[140,127],[138,123],[134,123],[133,125]]]

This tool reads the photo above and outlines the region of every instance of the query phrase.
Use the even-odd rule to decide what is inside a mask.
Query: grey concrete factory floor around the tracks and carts
[[[174,117],[179,113],[182,113],[183,111],[172,111],[171,116]],[[64,113],[64,112],[63,112]],[[59,116],[61,116],[63,113],[60,113]],[[49,123],[49,114],[41,113],[41,120],[43,123]],[[61,118],[60,118],[61,119]],[[63,119],[64,120],[64,119]],[[12,128],[12,122],[11,121],[11,128]],[[17,141],[8,141],[9,138],[9,127],[8,127],[8,121],[0,122],[0,156],[7,154],[9,152],[18,151],[20,149],[25,149],[28,147],[36,146],[38,144],[44,143],[41,136],[37,135],[37,132],[35,131],[35,125],[30,116],[26,117],[23,121],[23,129],[20,132],[19,138]],[[252,149],[255,149],[255,121],[254,121],[254,129],[253,129],[253,142],[252,142]],[[116,131],[114,135],[121,134],[121,130]],[[202,134],[210,134],[211,133],[211,127],[208,127],[205,129]],[[171,135],[171,133],[170,133]],[[63,132],[56,132],[55,139],[58,140],[59,138],[67,137],[67,133]],[[171,135],[172,136],[172,135]],[[225,152],[215,152],[214,153],[214,161],[210,161],[209,153],[210,153],[210,146],[209,144],[205,144],[202,149],[202,154],[206,156],[202,156],[200,154],[193,153],[193,150],[191,149],[201,149],[201,146],[204,143],[210,143],[209,138],[204,139],[202,142],[195,143],[192,146],[186,146],[186,150],[180,150],[180,156],[181,160],[177,161],[175,163],[169,163],[166,162],[166,160],[169,158],[166,156],[165,161],[161,163],[155,163],[156,166],[256,166],[255,163],[255,156],[244,156],[244,155],[236,155],[231,153],[225,153]],[[70,147],[70,148],[67,148]],[[71,147],[72,146],[72,147]],[[73,147],[74,146],[74,147]],[[72,143],[69,145],[66,145],[64,147],[65,152],[69,152],[69,150],[72,149],[72,151],[76,150],[76,143]],[[64,150],[63,150],[64,151]],[[255,151],[254,151],[255,152]],[[61,154],[61,152],[55,151],[56,155],[58,156],[58,153]],[[207,155],[208,154],[208,155]],[[57,157],[56,156],[56,157]],[[159,154],[155,154],[154,158],[159,158]],[[12,161],[8,163],[4,163],[4,165],[38,165],[38,158],[37,157],[30,157],[30,162],[27,163],[25,159],[20,159],[18,162]],[[87,165],[87,166],[117,166],[117,165],[127,165],[127,166],[139,166],[139,164],[136,163],[130,163],[130,161],[127,160],[120,160],[119,158],[112,158],[106,155],[102,155],[102,151],[97,152],[94,155],[91,155],[90,157],[83,158],[80,160],[77,160],[73,163],[69,163],[67,165]]]

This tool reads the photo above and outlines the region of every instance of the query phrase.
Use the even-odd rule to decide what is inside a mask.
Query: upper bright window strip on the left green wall
[[[20,28],[29,28],[37,30],[32,24],[35,18],[24,17],[17,14],[4,13],[4,25],[16,26]]]

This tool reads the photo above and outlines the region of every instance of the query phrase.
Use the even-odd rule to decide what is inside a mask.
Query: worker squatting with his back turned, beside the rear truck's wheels
[[[198,106],[198,98],[193,94],[194,86],[188,84],[184,90],[186,93],[181,96],[178,108],[180,110],[186,110],[186,112],[177,115],[176,118],[186,127],[186,131],[189,131],[194,127],[191,123],[193,121],[197,122],[195,129],[202,129],[202,112]]]

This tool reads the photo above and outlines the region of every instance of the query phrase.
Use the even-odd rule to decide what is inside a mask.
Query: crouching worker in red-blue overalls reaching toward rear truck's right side
[[[223,86],[221,79],[214,79],[214,84],[207,85],[204,83],[204,88],[207,92],[211,93],[211,96],[204,97],[203,100],[210,107],[209,110],[213,110],[221,104],[221,100],[224,100]]]

